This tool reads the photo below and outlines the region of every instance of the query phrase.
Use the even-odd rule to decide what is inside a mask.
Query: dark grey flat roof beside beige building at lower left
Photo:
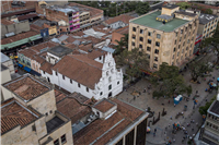
[[[61,126],[64,123],[65,123],[65,121],[61,120],[60,118],[58,118],[58,117],[53,118],[51,120],[49,120],[48,122],[46,122],[47,133],[49,134],[54,130],[56,130],[59,126]]]

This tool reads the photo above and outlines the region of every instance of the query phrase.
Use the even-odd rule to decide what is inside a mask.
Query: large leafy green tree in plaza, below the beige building
[[[151,83],[157,86],[153,97],[172,97],[174,94],[189,93],[192,87],[186,86],[184,77],[178,74],[178,68],[163,62],[159,71],[151,75]]]

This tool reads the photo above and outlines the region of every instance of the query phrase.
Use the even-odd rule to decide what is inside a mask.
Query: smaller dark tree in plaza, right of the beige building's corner
[[[212,69],[206,62],[193,61],[188,64],[191,76],[194,82],[198,80],[205,72],[211,72]]]

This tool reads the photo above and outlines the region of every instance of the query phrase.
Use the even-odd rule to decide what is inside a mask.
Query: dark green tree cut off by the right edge
[[[219,64],[219,29],[216,27],[212,37],[205,38],[205,47],[212,46],[214,51],[217,55],[217,64]]]

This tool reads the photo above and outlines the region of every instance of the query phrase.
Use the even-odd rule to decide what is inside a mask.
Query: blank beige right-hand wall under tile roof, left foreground
[[[27,105],[31,105],[38,112],[46,114],[46,121],[50,120],[57,110],[54,89],[30,100]]]

